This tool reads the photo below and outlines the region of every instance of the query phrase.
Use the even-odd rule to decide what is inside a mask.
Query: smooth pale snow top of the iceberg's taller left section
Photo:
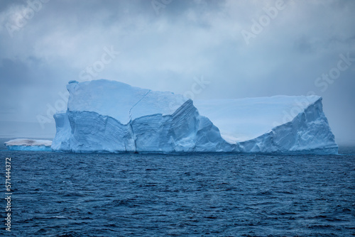
[[[123,124],[141,116],[173,114],[187,101],[172,92],[153,92],[107,79],[74,81],[67,84],[67,89],[70,111],[94,111],[116,118]]]

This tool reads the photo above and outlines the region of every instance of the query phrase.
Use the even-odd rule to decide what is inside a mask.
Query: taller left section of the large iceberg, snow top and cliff
[[[53,150],[190,153],[232,150],[193,102],[105,79],[70,82],[67,111],[54,115]]]

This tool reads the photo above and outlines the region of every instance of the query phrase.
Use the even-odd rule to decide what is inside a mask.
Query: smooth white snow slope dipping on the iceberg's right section
[[[310,104],[320,99],[310,97],[260,97],[245,99],[195,100],[200,115],[207,116],[229,143],[251,140],[288,123]]]

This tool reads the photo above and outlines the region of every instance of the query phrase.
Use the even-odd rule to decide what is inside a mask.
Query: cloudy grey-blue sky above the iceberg
[[[317,94],[355,145],[353,0],[1,0],[0,136],[53,138],[70,80],[192,99]]]

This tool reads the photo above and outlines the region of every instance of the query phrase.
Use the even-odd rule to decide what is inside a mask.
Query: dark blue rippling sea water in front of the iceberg
[[[355,236],[355,150],[340,152],[346,154],[1,150],[0,235]],[[5,158],[11,233],[4,225]]]

